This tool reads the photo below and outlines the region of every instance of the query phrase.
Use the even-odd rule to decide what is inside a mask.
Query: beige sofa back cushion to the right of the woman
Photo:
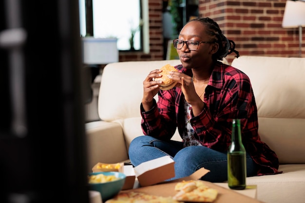
[[[280,164],[305,164],[305,58],[240,56],[231,65],[250,78],[261,139]]]

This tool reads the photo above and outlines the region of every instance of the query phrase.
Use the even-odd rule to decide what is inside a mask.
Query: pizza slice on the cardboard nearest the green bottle
[[[175,190],[179,192],[173,199],[185,202],[212,203],[218,194],[216,189],[210,188],[200,180],[179,182],[175,185]]]

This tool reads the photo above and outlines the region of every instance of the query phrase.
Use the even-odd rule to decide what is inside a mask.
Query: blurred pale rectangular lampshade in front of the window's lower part
[[[88,65],[108,64],[118,61],[116,38],[82,38],[83,63]]]

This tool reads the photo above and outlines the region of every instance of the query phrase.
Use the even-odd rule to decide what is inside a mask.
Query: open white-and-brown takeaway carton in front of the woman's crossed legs
[[[161,183],[175,177],[174,161],[170,156],[153,159],[135,166],[134,173],[142,187]]]

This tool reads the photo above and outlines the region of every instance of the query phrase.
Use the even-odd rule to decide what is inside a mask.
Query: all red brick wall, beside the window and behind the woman
[[[163,59],[162,3],[149,0],[151,53],[120,53],[120,61]],[[240,55],[298,57],[298,28],[282,28],[285,4],[286,0],[199,0],[199,16],[214,19]],[[304,33],[305,28],[303,40]],[[226,58],[231,62],[234,53]]]

